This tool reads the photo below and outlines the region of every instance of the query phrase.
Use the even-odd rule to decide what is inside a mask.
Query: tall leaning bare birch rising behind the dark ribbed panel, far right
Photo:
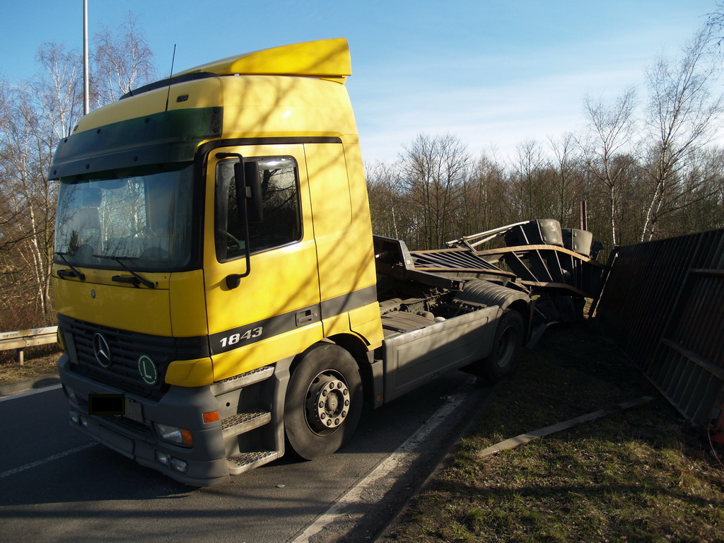
[[[651,188],[641,241],[650,240],[660,218],[679,209],[682,195],[696,188],[682,184],[683,170],[715,135],[723,98],[710,92],[719,75],[707,54],[710,42],[709,31],[702,30],[686,44],[680,58],[661,57],[647,73],[651,93],[647,172]]]

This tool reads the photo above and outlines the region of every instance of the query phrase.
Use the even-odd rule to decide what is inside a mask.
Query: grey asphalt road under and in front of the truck
[[[332,456],[282,458],[206,489],[73,432],[62,390],[12,397],[0,402],[0,541],[369,542],[489,394],[467,379],[453,372],[364,413],[353,441]],[[439,410],[451,401],[459,405],[443,419]],[[439,426],[412,452],[393,454],[431,424]],[[366,499],[341,516],[324,515],[385,458],[396,467],[365,487]],[[310,536],[320,515],[333,521]]]

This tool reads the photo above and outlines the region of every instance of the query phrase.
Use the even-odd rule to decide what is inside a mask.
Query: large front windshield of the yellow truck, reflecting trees
[[[193,166],[62,178],[55,251],[74,266],[173,271],[190,261]],[[62,258],[56,258],[64,264]]]

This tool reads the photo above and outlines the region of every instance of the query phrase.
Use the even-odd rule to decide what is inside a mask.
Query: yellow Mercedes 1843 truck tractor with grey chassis
[[[419,271],[404,243],[372,236],[350,74],[341,38],[256,51],[133,90],[60,143],[53,285],[72,426],[216,484],[285,447],[334,452],[363,399],[491,345],[514,357],[525,289]]]

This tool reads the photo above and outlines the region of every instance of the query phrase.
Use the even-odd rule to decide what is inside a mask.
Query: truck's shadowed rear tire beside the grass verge
[[[510,374],[523,344],[523,317],[518,311],[506,309],[497,323],[490,354],[463,368],[490,382],[498,382]]]

